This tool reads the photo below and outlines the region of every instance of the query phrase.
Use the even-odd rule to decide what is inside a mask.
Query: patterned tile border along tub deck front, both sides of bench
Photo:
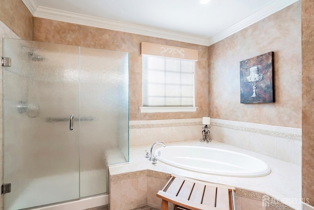
[[[131,178],[143,177],[143,176],[155,177],[162,180],[169,180],[171,177],[171,174],[147,169],[147,170],[140,170],[140,171],[113,175],[110,177],[110,181],[127,180]],[[263,204],[265,206],[271,205],[278,210],[294,210],[293,208],[287,206],[286,204],[283,204],[280,200],[275,199],[266,193],[256,192],[256,191],[251,191],[251,190],[246,190],[246,189],[241,189],[241,188],[235,188],[235,195],[244,197],[244,198],[250,198],[250,199],[262,201],[264,202]]]

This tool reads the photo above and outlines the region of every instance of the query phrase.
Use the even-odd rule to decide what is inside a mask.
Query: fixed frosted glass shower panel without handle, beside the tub
[[[129,161],[129,54],[80,47],[80,197],[107,192],[107,164]]]

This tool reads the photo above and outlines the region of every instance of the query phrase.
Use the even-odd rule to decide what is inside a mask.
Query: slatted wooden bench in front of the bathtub
[[[194,180],[172,174],[157,197],[161,210],[168,210],[168,202],[188,210],[235,210],[235,187]]]

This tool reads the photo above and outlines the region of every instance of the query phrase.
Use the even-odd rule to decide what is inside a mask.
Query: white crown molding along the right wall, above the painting
[[[229,27],[226,30],[223,30],[216,35],[209,38],[208,46],[227,38],[228,36],[245,29],[246,27],[253,25],[254,23],[257,23],[264,19],[265,17],[268,17],[269,15],[272,15],[287,6],[291,5],[292,3],[295,3],[298,0],[275,0],[266,6],[264,6],[259,11],[255,12],[253,15],[249,16],[248,18],[240,21],[239,23],[235,24],[232,27]]]

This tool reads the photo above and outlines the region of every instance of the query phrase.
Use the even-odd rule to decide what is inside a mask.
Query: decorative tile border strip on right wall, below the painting
[[[246,132],[251,132],[251,133],[259,133],[259,134],[268,135],[268,136],[281,137],[281,138],[286,138],[286,139],[291,139],[291,140],[296,140],[296,141],[302,141],[302,135],[296,135],[296,134],[291,134],[291,133],[282,133],[282,132],[263,130],[263,129],[258,129],[258,128],[242,127],[242,126],[230,125],[230,124],[224,124],[224,123],[218,123],[218,122],[211,122],[210,125],[234,129],[234,130],[241,130],[241,131],[246,131]]]

